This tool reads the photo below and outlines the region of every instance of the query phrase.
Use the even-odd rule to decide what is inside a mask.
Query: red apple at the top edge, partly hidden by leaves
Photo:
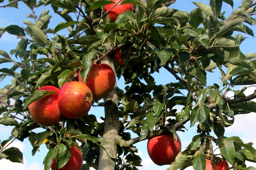
[[[113,4],[108,4],[105,6],[104,10],[107,12],[108,10],[110,10],[110,8],[112,8],[115,4],[117,4],[117,2],[119,0],[112,0],[116,3]],[[122,0],[123,1],[123,0]],[[121,2],[122,2],[121,1]],[[110,18],[111,22],[116,22],[117,17],[123,13],[126,12],[127,10],[130,10],[132,12],[134,12],[134,7],[133,4],[123,4],[120,5],[121,2],[119,2],[110,12],[107,13],[108,17]]]

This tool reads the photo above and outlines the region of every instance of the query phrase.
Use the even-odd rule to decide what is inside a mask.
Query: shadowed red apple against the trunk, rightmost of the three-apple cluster
[[[80,70],[78,81],[82,82]],[[84,84],[91,89],[94,100],[100,100],[114,89],[116,75],[108,64],[92,64]]]

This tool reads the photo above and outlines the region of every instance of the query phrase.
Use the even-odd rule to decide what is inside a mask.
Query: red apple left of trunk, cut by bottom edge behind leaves
[[[82,168],[82,163],[83,163],[83,158],[81,152],[76,149],[75,147],[71,147],[71,153],[70,153],[70,158],[66,165],[64,165],[62,168],[59,170],[80,170]],[[53,160],[51,169],[52,170],[57,170],[56,169],[56,163],[57,163],[57,158]]]

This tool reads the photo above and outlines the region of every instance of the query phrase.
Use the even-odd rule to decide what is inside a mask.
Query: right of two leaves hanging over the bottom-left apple
[[[68,162],[71,155],[70,152],[71,152],[70,145],[59,143],[56,169],[62,168]]]

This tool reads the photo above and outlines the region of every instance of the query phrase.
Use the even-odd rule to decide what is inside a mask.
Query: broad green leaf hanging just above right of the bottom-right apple
[[[233,141],[224,136],[218,137],[216,145],[220,148],[220,153],[232,165],[235,161],[235,147]]]

